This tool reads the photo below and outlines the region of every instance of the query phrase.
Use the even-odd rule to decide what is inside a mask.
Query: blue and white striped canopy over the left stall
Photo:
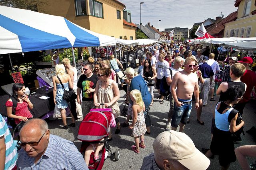
[[[115,38],[60,16],[0,6],[0,54],[104,45],[116,45]]]

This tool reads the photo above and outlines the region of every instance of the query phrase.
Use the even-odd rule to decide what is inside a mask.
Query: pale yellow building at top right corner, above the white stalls
[[[236,0],[237,19],[225,23],[224,37],[256,37],[256,0]]]

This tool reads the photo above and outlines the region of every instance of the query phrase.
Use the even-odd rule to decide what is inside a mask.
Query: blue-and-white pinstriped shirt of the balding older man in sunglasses
[[[20,170],[88,170],[82,154],[66,139],[50,135],[46,151],[35,164],[34,157],[20,150],[17,168]]]

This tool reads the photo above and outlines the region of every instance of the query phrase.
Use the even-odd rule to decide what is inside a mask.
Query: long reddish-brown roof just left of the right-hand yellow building
[[[223,18],[222,20],[218,20],[215,23],[213,23],[212,26],[206,28],[206,31],[211,34],[211,35],[215,35],[220,33],[220,31],[224,30],[224,23],[230,22],[230,21],[234,21],[237,18],[237,11],[236,12],[232,12],[231,14],[229,14],[226,18]],[[216,23],[217,23],[217,27],[216,27]]]

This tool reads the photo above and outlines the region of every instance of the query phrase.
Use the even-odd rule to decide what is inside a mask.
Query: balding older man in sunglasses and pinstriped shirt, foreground
[[[16,162],[20,170],[88,170],[82,154],[71,142],[50,135],[46,121],[31,119],[20,130],[22,147]]]

